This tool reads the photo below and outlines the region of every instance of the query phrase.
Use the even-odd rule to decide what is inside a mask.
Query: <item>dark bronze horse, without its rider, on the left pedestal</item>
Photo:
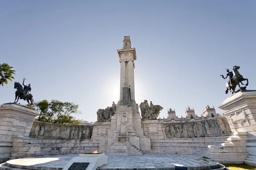
[[[26,96],[24,96],[23,87],[19,82],[14,82],[14,88],[17,88],[17,91],[15,91],[15,101],[14,102],[17,103],[19,99],[26,100],[28,102],[28,107],[30,105],[30,108],[31,108],[32,105],[34,104],[34,96],[30,93],[27,94]],[[17,99],[17,101],[16,101],[16,99]],[[30,103],[29,103],[29,101],[30,101]]]

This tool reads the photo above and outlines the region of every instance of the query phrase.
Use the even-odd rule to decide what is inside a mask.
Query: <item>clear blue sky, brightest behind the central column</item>
[[[222,113],[225,68],[239,65],[256,89],[255,9],[254,0],[2,0],[0,62],[15,68],[15,81],[26,77],[36,101],[74,102],[77,119],[96,121],[119,99],[116,50],[130,36],[139,105],[161,105],[161,118],[168,108],[185,116],[187,106]],[[1,104],[14,100],[12,82],[0,87]]]

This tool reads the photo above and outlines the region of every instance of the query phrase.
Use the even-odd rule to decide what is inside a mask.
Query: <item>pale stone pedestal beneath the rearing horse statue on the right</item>
[[[219,108],[224,110],[232,132],[248,132],[248,137],[256,135],[256,91],[233,94]]]

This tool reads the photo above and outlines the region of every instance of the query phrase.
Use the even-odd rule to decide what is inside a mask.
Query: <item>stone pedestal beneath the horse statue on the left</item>
[[[9,159],[12,151],[12,136],[29,136],[38,113],[34,109],[14,103],[0,107],[0,163]]]

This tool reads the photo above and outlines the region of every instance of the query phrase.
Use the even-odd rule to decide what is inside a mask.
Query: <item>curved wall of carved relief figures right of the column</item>
[[[189,122],[165,123],[167,138],[210,137],[231,134],[230,126],[224,116]]]

